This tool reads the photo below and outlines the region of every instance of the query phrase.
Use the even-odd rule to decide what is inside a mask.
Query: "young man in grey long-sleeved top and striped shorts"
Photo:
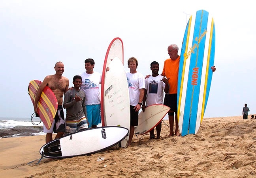
[[[73,90],[68,90],[65,93],[63,103],[63,107],[66,109],[66,134],[73,134],[88,128],[85,92],[80,90],[82,77],[75,75],[73,84]]]

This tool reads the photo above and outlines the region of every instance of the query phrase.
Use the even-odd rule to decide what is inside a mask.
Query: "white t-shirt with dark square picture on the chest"
[[[163,104],[165,83],[161,81],[164,76],[158,75],[145,79],[145,89],[147,90],[146,105]]]

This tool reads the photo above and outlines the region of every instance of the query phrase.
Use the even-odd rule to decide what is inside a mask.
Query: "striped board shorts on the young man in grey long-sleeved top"
[[[81,130],[87,129],[87,119],[85,116],[77,120],[67,121],[66,120],[66,134],[73,134]]]

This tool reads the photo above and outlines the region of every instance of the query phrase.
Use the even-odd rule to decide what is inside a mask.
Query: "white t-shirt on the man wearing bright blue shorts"
[[[94,71],[92,74],[82,72],[79,75],[82,77],[81,90],[85,92],[85,104],[100,104],[101,74]]]

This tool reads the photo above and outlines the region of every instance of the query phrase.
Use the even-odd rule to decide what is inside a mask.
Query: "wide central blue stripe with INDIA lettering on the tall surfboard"
[[[192,49],[194,49],[194,53],[191,54],[190,59],[188,87],[186,91],[186,103],[183,119],[183,123],[185,122],[187,124],[187,126],[183,124],[183,132],[187,132],[188,134],[195,133],[196,129],[207,19],[208,13],[206,11],[197,11],[192,42]]]

